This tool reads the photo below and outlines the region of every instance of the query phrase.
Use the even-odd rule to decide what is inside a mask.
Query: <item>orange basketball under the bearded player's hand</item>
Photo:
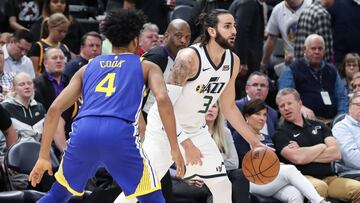
[[[250,182],[264,185],[276,178],[280,170],[280,161],[271,149],[257,147],[245,154],[242,170]]]

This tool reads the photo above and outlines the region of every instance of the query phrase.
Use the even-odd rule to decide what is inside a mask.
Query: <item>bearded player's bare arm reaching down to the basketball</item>
[[[251,147],[264,146],[250,130],[243,115],[235,103],[235,80],[240,67],[240,59],[234,54],[233,74],[228,85],[221,94],[220,105],[225,118],[234,129],[250,144]]]

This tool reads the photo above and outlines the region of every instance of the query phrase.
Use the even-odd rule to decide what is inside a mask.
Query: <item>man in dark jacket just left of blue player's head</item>
[[[101,54],[101,45],[102,38],[99,33],[95,31],[86,33],[81,38],[80,55],[66,63],[64,75],[70,80],[76,71],[87,64],[90,59]]]

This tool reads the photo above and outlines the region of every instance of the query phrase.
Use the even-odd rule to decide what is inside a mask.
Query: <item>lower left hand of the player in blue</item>
[[[29,175],[29,181],[33,187],[40,183],[45,171],[48,171],[50,176],[53,175],[51,161],[49,159],[39,158]]]

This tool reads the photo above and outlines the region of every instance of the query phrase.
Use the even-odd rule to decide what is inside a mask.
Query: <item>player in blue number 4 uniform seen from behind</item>
[[[113,54],[98,56],[82,67],[51,105],[44,126],[39,159],[29,175],[35,186],[45,171],[52,175],[49,151],[61,113],[83,96],[83,105],[72,126],[56,182],[38,202],[67,202],[82,195],[89,177],[105,167],[128,197],[144,203],[163,203],[159,180],[138,142],[138,118],[145,84],[153,91],[177,175],[184,174],[184,160],[176,141],[175,117],[162,72],[133,54],[143,15],[132,10],[110,13],[104,34]]]

